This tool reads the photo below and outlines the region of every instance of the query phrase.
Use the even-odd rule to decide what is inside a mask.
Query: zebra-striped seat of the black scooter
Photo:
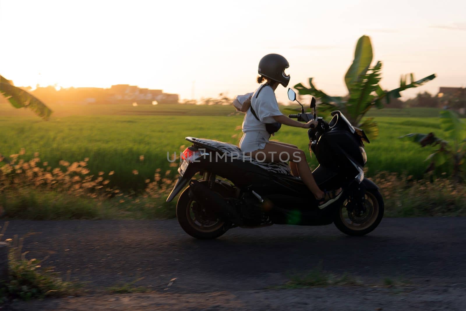
[[[290,167],[288,163],[285,162],[260,162],[255,160],[254,158],[251,159],[237,145],[233,145],[230,143],[224,143],[218,140],[213,139],[206,139],[206,138],[195,138],[195,137],[186,137],[187,141],[192,142],[195,145],[200,145],[205,147],[206,149],[211,149],[217,152],[221,152],[226,155],[226,157],[234,157],[235,160],[243,161],[243,162],[250,162],[256,166],[260,166],[261,168],[267,170],[270,173],[275,174],[284,174],[289,175],[291,174]]]

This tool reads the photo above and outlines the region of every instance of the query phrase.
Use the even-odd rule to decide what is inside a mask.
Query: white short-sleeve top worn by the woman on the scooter
[[[262,89],[262,90],[261,90]],[[259,95],[257,92],[260,90]],[[238,101],[243,104],[249,94],[238,96]],[[257,96],[256,96],[257,95]],[[281,116],[282,113],[278,108],[277,99],[275,98],[274,90],[269,85],[261,85],[251,98],[251,107],[256,112],[256,119],[249,108],[243,119],[242,131],[266,131],[266,123],[276,122],[274,116]]]

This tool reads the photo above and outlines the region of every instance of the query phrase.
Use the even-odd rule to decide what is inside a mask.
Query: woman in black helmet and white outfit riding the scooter
[[[257,82],[262,83],[265,80],[266,83],[261,84],[252,94],[238,96],[233,102],[239,111],[246,112],[240,149],[260,161],[279,162],[283,158],[289,159],[292,174],[301,177],[318,200],[319,207],[323,208],[338,200],[342,189],[322,191],[315,183],[302,150],[295,145],[269,141],[270,135],[278,131],[281,124],[302,128],[309,128],[311,124],[317,125],[316,120],[301,123],[281,113],[275,90],[279,84],[283,87],[288,86],[290,76],[285,74],[288,67],[289,63],[285,57],[278,54],[265,55],[259,62]]]

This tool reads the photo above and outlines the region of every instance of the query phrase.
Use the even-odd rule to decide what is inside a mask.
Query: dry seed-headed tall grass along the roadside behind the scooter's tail
[[[97,218],[171,218],[173,203],[161,204],[171,190],[171,170],[155,171],[153,180],[144,181],[139,193],[124,193],[110,187],[113,175],[90,173],[88,160],[59,167],[34,159],[22,159],[25,150],[12,155],[0,167],[0,214],[8,218],[33,220],[97,219]],[[135,170],[132,172],[137,175]]]

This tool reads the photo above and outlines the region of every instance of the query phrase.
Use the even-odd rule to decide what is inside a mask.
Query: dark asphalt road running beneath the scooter
[[[466,218],[387,218],[364,237],[335,226],[234,228],[199,241],[167,221],[10,221],[5,238],[24,236],[27,258],[103,289],[137,284],[182,293],[259,290],[322,262],[365,280],[466,283]]]

